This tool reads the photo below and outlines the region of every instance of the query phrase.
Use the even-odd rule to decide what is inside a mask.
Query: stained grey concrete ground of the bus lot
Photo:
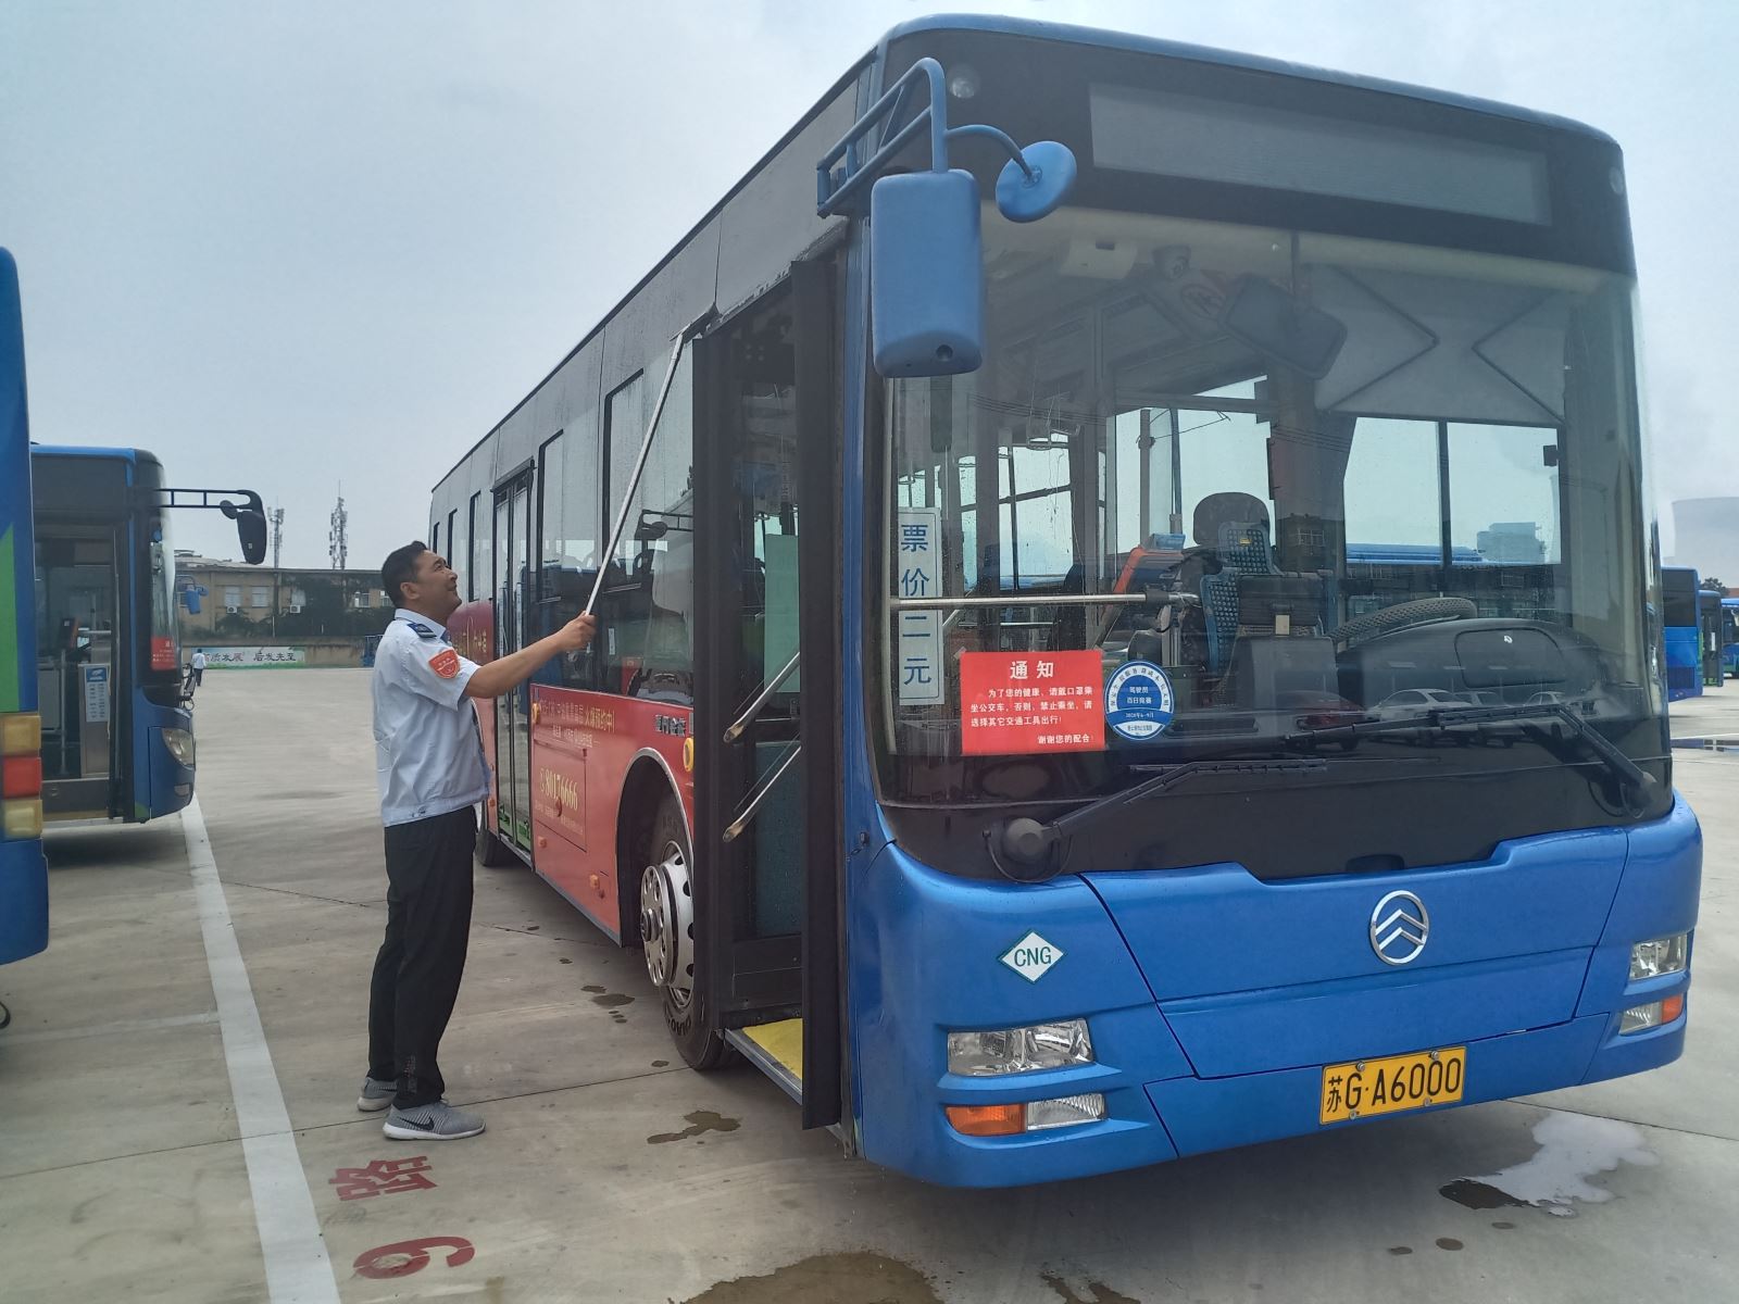
[[[1739,734],[1739,685],[1682,716],[1687,737]],[[478,871],[445,1043],[450,1095],[489,1132],[384,1141],[353,1102],[386,887],[365,671],[210,675],[198,735],[219,913],[181,819],[59,831],[50,948],[0,968],[0,1299],[1739,1299],[1739,756],[1676,753],[1708,838],[1678,1064],[986,1193],[842,1160],[751,1069],[680,1068],[638,955],[523,871]],[[270,1059],[245,1054],[242,972]],[[243,1142],[277,1099],[261,1080],[287,1130]],[[417,1156],[381,1194],[339,1172]],[[1478,1207],[1490,1188],[1542,1205]],[[270,1295],[256,1201],[292,1269]]]

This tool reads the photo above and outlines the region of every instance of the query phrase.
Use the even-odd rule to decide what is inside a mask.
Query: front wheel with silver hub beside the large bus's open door
[[[647,975],[664,998],[664,1026],[692,1069],[718,1068],[729,1052],[711,1026],[706,993],[694,970],[694,882],[689,831],[682,807],[666,793],[645,842],[649,864],[640,873],[640,944]]]

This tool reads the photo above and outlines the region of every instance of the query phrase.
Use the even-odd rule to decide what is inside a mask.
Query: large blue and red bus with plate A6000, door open
[[[478,854],[936,1182],[1666,1064],[1633,290],[1579,123],[908,23],[436,485],[470,655],[600,617]]]

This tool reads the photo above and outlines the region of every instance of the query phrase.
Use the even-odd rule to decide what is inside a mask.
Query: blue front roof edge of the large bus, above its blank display
[[[1285,59],[1268,59],[1259,54],[1240,54],[1236,50],[1221,50],[1212,45],[1189,45],[1177,40],[1162,40],[1160,37],[1136,37],[1127,31],[1108,31],[1104,28],[1078,28],[1068,23],[1045,23],[1042,19],[1026,17],[1000,17],[996,14],[930,14],[925,17],[915,17],[909,23],[901,23],[897,28],[889,31],[882,38],[882,49],[885,50],[890,42],[903,37],[915,37],[925,31],[991,31],[1009,37],[1033,37],[1036,40],[1056,40],[1069,42],[1073,45],[1099,45],[1109,50],[1134,50],[1137,54],[1163,54],[1172,59],[1191,59],[1193,63],[1210,63],[1221,68],[1243,68],[1257,73],[1278,73],[1282,77],[1299,77],[1309,82],[1325,82],[1329,85],[1356,87],[1360,90],[1379,90],[1389,96],[1405,96],[1409,99],[1423,99],[1431,104],[1445,104],[1449,108],[1469,110],[1475,113],[1489,113],[1499,118],[1511,118],[1515,122],[1530,122],[1539,127],[1551,127],[1555,130],[1577,132],[1581,136],[1591,136],[1607,144],[1617,144],[1610,136],[1607,136],[1598,127],[1589,127],[1586,122],[1577,122],[1574,118],[1562,118],[1555,113],[1537,113],[1534,110],[1518,108],[1515,104],[1502,104],[1496,99],[1478,99],[1476,96],[1457,96],[1450,90],[1435,90],[1431,87],[1409,85],[1407,82],[1388,82],[1381,77],[1362,77],[1358,73],[1337,73],[1329,68],[1315,68],[1303,63],[1289,63]]]

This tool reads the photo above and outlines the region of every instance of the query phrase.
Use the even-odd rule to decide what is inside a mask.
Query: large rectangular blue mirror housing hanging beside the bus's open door
[[[870,334],[889,379],[984,360],[984,259],[970,172],[904,172],[870,191]]]

